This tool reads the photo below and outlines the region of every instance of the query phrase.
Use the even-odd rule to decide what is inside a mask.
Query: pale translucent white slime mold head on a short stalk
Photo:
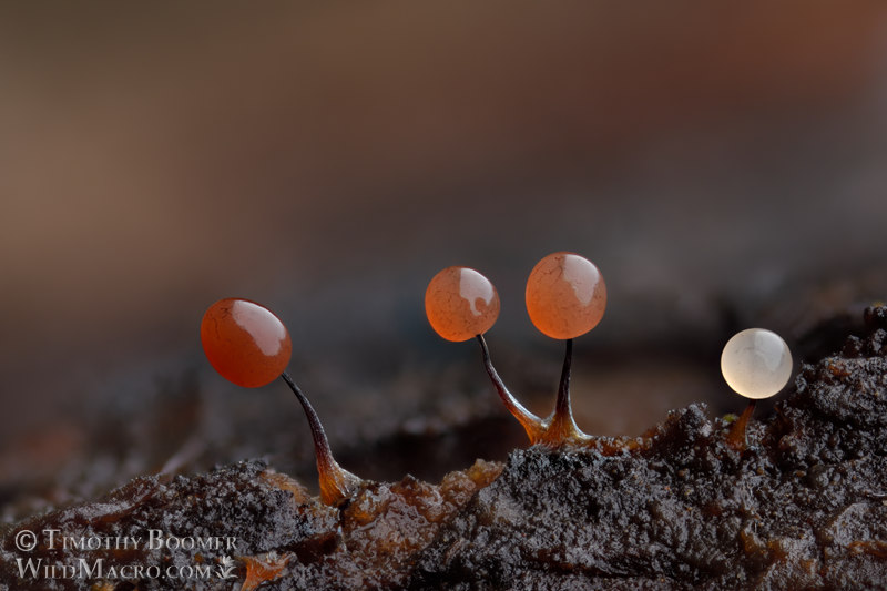
[[[727,385],[746,398],[769,398],[792,377],[792,351],[772,330],[748,328],[727,340],[721,354]]]

